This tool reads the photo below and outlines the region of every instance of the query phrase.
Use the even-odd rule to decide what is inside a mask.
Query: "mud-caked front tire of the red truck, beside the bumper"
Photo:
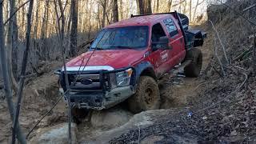
[[[131,112],[138,114],[144,110],[156,110],[160,107],[160,93],[158,84],[149,76],[138,79],[136,93],[128,98],[128,107]]]

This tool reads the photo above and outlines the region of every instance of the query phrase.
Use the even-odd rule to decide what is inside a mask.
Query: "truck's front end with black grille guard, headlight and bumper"
[[[65,94],[64,71],[60,71],[60,92]],[[70,84],[70,102],[87,109],[107,109],[135,93],[135,70],[126,67],[118,70],[67,71]]]

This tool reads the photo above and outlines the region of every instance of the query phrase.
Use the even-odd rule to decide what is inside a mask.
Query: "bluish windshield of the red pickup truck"
[[[104,29],[95,38],[92,49],[136,49],[147,46],[148,26]]]

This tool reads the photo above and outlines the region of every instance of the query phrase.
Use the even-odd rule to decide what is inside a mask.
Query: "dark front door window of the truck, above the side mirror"
[[[152,27],[152,36],[151,40],[152,42],[158,42],[161,37],[165,37],[165,31],[162,29],[162,26],[160,23],[155,24]]]

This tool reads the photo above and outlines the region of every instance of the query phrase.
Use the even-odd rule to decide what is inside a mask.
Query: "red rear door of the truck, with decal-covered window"
[[[174,18],[164,19],[163,24],[170,39],[170,46],[172,47],[172,50],[169,51],[171,58],[168,61],[169,65],[171,66],[170,68],[172,68],[179,62],[182,62],[182,55],[186,53],[184,38],[180,28],[177,25],[177,22],[174,21]]]

